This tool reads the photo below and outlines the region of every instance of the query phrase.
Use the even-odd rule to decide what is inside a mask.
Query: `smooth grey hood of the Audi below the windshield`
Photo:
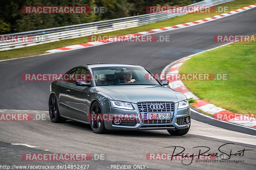
[[[186,100],[180,92],[172,91],[164,86],[155,85],[113,85],[97,86],[95,90],[108,94],[114,100],[138,103],[142,101],[173,101]]]

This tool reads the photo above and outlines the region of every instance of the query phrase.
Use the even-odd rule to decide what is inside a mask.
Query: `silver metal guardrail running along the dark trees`
[[[204,0],[188,6],[214,6],[234,0]],[[146,9],[146,7],[145,7]],[[72,26],[62,26],[56,28],[48,28],[35,31],[27,31],[21,33],[12,33],[8,35],[44,35],[49,39],[46,42],[0,42],[0,51],[10,50],[44,44],[48,42],[60,41],[71,38],[84,37],[92,34],[107,33],[111,31],[142,26],[145,24],[162,21],[172,17],[185,15],[185,13],[150,13],[132,17],[110,19],[105,21],[91,22],[86,24],[78,24]]]

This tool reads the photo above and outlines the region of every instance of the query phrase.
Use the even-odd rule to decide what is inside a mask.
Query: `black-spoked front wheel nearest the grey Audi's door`
[[[94,102],[92,104],[92,107],[90,109],[90,114],[102,114],[102,109],[100,107],[100,104],[98,102]],[[92,131],[94,133],[104,134],[107,132],[107,129],[105,128],[104,121],[100,120],[91,120],[90,122]]]

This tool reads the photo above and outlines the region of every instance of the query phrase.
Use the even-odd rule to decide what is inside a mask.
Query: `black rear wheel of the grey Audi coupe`
[[[60,117],[59,107],[56,97],[52,94],[49,99],[49,116],[54,123],[64,123],[66,120]]]

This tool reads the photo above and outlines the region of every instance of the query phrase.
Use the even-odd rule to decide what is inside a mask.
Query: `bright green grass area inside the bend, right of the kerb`
[[[228,73],[228,80],[183,81],[199,98],[240,114],[256,114],[256,43],[236,42],[193,56],[180,73]]]

